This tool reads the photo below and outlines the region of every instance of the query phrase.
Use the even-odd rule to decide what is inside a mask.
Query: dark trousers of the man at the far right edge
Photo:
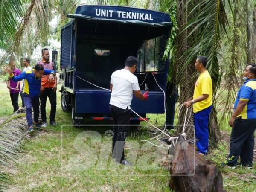
[[[236,118],[230,136],[229,166],[236,166],[239,156],[243,166],[253,166],[255,128],[256,119]]]

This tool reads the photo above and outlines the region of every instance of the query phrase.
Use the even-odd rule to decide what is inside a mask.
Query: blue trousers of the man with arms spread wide
[[[30,97],[28,94],[23,94],[24,104],[26,106],[26,119],[29,127],[33,125],[32,121],[32,107],[34,111],[34,121],[38,123],[39,119],[39,96]]]

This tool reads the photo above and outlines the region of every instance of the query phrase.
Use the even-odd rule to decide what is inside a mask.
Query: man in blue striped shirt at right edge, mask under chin
[[[244,84],[240,87],[234,112],[229,120],[232,127],[228,166],[233,169],[240,156],[241,165],[252,169],[254,131],[256,128],[256,65],[249,64],[244,70]]]

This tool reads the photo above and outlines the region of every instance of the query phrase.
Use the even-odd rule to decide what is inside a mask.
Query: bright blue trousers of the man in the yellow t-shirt
[[[196,146],[198,148],[198,152],[207,154],[209,145],[209,131],[208,131],[208,124],[209,124],[209,116],[212,110],[212,105],[208,108],[198,111],[194,113],[194,124],[195,124],[195,137],[198,139]]]

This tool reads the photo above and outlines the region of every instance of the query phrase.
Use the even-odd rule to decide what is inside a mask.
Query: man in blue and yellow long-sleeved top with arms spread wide
[[[54,81],[54,70],[44,69],[40,64],[36,64],[32,70],[23,71],[20,75],[14,76],[12,70],[8,67],[4,67],[4,70],[9,74],[10,78],[13,81],[24,81],[23,89],[23,100],[26,106],[26,119],[29,125],[29,134],[34,133],[32,127],[32,107],[34,112],[34,122],[36,127],[40,127],[38,124],[39,118],[39,92],[41,88],[41,78],[43,75],[50,75],[49,81]]]

